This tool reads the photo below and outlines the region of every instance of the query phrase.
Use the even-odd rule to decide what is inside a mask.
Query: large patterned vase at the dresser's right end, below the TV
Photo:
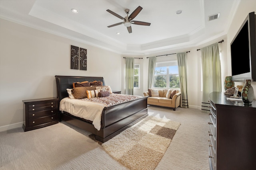
[[[251,86],[251,80],[246,80],[241,92],[244,105],[252,105],[253,93],[254,91]]]

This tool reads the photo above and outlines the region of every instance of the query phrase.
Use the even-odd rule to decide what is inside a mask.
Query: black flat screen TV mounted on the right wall
[[[256,15],[248,14],[231,44],[233,81],[256,81]]]

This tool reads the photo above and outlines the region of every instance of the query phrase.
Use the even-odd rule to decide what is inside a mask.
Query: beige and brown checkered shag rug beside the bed
[[[179,122],[148,116],[103,143],[102,147],[131,170],[153,170],[179,126]]]

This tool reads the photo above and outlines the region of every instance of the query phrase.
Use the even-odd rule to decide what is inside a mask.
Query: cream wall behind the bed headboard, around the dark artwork
[[[120,54],[0,22],[0,131],[22,126],[22,100],[56,97],[55,75],[102,76],[112,90],[121,90]],[[70,45],[87,49],[86,71],[70,69]]]

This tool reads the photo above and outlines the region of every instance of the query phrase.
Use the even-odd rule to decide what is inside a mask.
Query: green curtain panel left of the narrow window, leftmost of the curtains
[[[125,65],[125,94],[133,95],[134,87],[134,58],[126,57]]]

